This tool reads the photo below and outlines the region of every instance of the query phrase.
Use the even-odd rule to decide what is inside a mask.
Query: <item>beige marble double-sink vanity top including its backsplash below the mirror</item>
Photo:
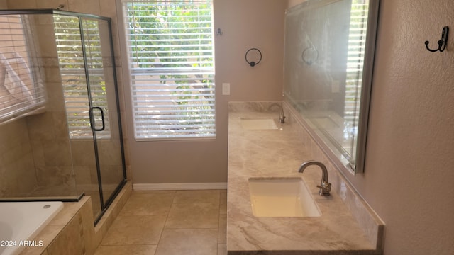
[[[291,108],[284,103],[287,118],[279,123],[280,109],[273,103],[229,103],[228,254],[382,254],[383,222],[338,174]],[[319,195],[317,166],[299,173],[301,163],[311,159],[326,165],[331,196]],[[272,203],[283,208],[276,215],[260,214],[272,208],[253,208],[250,192],[260,192],[253,190],[254,182],[284,183],[277,191],[290,185],[286,180],[301,179],[321,215],[283,216],[289,210],[279,203]],[[266,190],[274,192],[271,186]]]

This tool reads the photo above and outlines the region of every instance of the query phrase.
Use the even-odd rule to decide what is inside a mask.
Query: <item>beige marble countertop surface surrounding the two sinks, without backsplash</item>
[[[265,107],[266,109],[267,107]],[[260,110],[260,109],[259,109]],[[381,254],[377,244],[360,227],[333,187],[331,196],[318,195],[321,171],[302,162],[312,159],[299,138],[296,122],[279,124],[278,130],[245,130],[240,118],[272,117],[277,111],[250,111],[230,107],[228,131],[228,254]],[[314,168],[314,169],[312,169]],[[332,176],[331,179],[336,177]],[[321,217],[253,216],[250,177],[300,177],[316,200]],[[334,185],[334,183],[333,183]]]

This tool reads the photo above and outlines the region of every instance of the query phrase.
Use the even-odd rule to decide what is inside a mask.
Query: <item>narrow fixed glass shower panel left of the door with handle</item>
[[[62,81],[76,188],[92,197],[94,215],[101,212],[96,147],[91,127],[84,47],[77,16],[54,15],[55,41]]]

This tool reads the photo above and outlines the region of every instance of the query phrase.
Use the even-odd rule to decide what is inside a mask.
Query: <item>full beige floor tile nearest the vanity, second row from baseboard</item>
[[[166,229],[218,228],[219,205],[214,203],[181,203],[170,208]]]

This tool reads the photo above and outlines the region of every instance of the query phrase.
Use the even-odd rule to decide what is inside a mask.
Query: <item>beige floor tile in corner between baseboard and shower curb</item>
[[[120,215],[167,215],[175,193],[133,192]]]

